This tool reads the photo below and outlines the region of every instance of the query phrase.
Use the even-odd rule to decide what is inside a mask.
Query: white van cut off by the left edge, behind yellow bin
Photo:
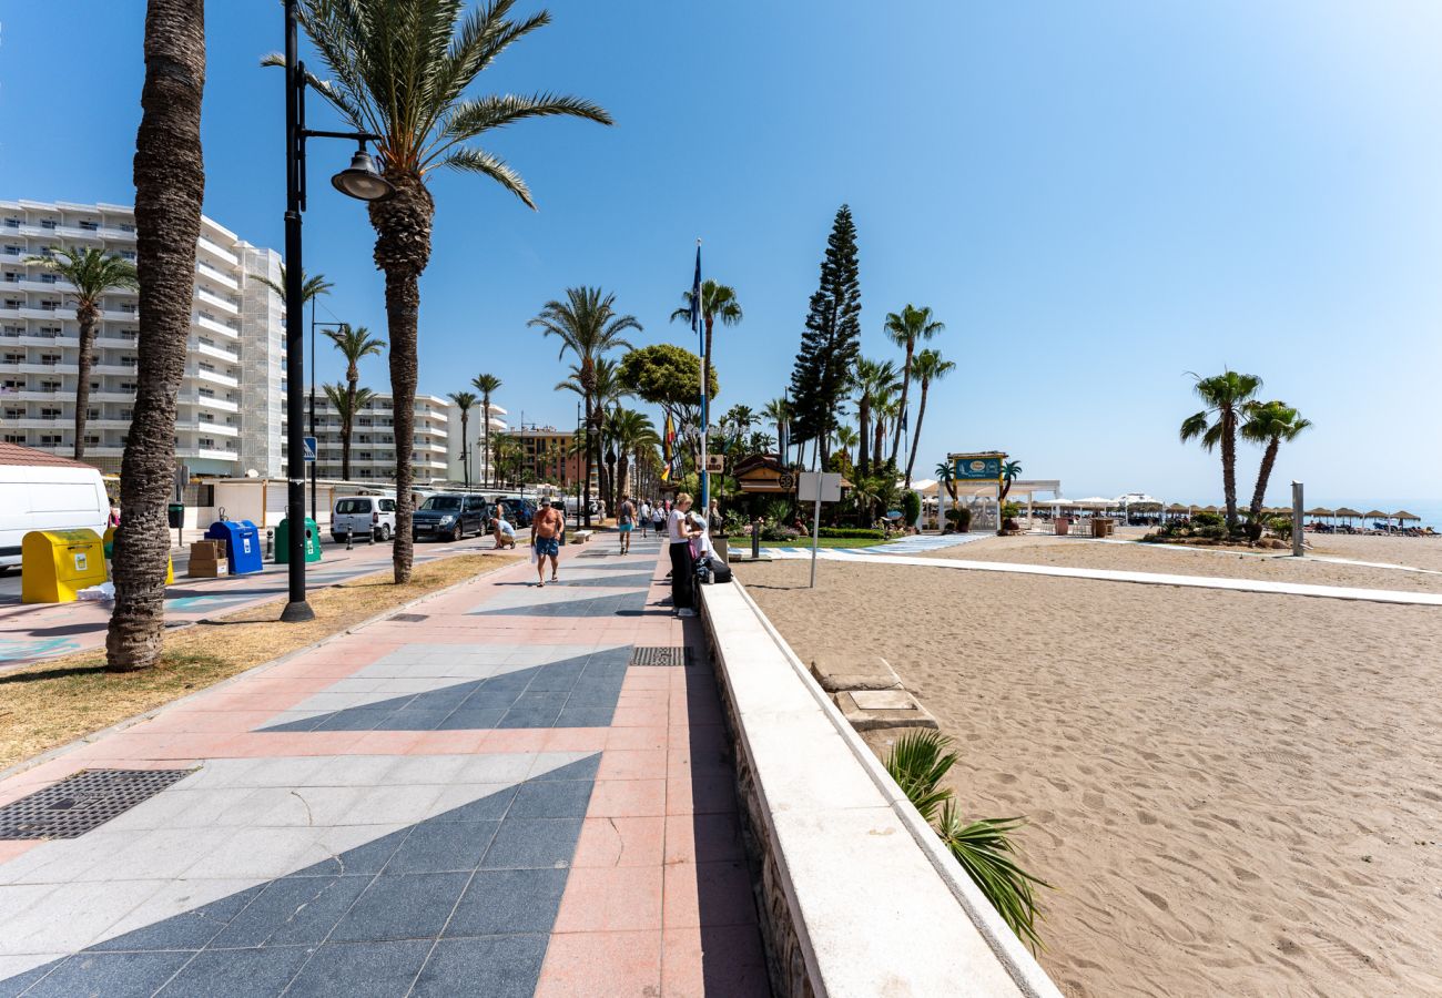
[[[0,444],[0,573],[20,564],[30,531],[104,534],[110,498],[99,472],[19,444]]]

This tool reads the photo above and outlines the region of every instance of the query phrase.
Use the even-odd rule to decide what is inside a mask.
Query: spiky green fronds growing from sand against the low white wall
[[[942,786],[957,759],[950,744],[950,738],[936,731],[901,736],[887,757],[887,772],[996,913],[1035,950],[1041,946],[1035,888],[1051,884],[1017,862],[1012,835],[1025,826],[1027,819],[962,821],[952,789]]]

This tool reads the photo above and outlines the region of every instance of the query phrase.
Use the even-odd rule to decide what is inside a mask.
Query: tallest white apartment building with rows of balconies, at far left
[[[0,434],[69,454],[75,433],[79,327],[75,288],[30,257],[95,247],[134,260],[136,218],[124,205],[0,200]],[[202,218],[176,457],[192,473],[283,473],[280,434],[284,323],[280,254]],[[118,472],[136,395],[137,296],[101,304],[85,457]]]

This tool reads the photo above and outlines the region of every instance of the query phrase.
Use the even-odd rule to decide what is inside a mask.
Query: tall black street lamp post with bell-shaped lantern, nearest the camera
[[[359,200],[381,200],[394,193],[365,149],[379,136],[306,128],[306,68],[297,50],[296,3],[286,0],[286,519],[290,521],[290,601],[280,619],[287,623],[316,617],[306,600],[306,456],[301,430],[306,417],[306,301],[300,215],[306,211],[306,140],[350,138],[359,144],[350,167],[330,179],[340,193]]]

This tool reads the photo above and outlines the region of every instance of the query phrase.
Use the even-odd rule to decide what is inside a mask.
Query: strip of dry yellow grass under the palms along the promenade
[[[284,597],[236,610],[166,635],[160,665],[141,672],[105,672],[105,652],[97,649],[0,674],[0,769],[516,561],[463,554],[417,565],[404,586],[386,568],[311,590],[316,619],[298,624],[277,620]]]

